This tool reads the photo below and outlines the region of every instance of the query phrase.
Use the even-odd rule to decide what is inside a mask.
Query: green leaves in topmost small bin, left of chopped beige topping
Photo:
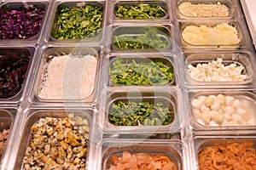
[[[121,19],[154,19],[165,16],[164,10],[156,4],[138,3],[133,5],[118,5],[113,12]]]

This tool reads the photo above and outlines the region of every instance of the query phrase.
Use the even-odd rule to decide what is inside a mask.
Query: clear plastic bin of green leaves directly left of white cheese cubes
[[[176,55],[175,54],[137,54],[137,53],[133,53],[133,54],[109,54],[107,56],[105,56],[105,58],[103,59],[103,66],[102,66],[102,80],[104,79],[104,87],[127,87],[127,86],[138,86],[138,87],[145,87],[145,86],[153,86],[153,85],[177,85],[179,82],[177,80],[177,59],[176,59]],[[119,66],[118,68],[115,68],[115,63],[121,63],[122,66]],[[135,70],[135,68],[137,68],[139,70],[139,68],[142,68],[142,66],[140,65],[151,65],[152,63],[155,63],[155,66],[158,68],[157,70],[151,71],[152,74],[156,74],[156,71],[159,71],[159,73],[164,74],[165,76],[160,76],[158,80],[156,79],[150,79],[150,75],[148,76],[146,74],[146,72],[141,71],[141,72],[137,72],[137,75],[144,75],[146,80],[144,80],[143,82],[138,82],[135,79],[132,79],[133,81],[131,81],[131,85],[127,82],[113,82],[114,80],[117,80],[119,75],[118,73],[115,73],[116,71],[118,71],[120,69],[120,67],[122,67],[125,72],[125,68],[127,68],[127,71],[129,69],[129,65],[134,65],[134,67],[132,66],[132,70]],[[167,73],[167,71],[161,71],[160,70],[160,66],[157,66],[157,63],[160,62],[161,64],[163,64],[164,67],[166,67],[166,69],[169,69],[172,72],[172,75],[166,75],[165,73]],[[135,64],[136,63],[136,64]],[[150,71],[148,71],[149,73]],[[119,74],[122,74],[121,72],[119,72]],[[131,73],[132,75],[133,73]],[[138,76],[139,77],[139,76]],[[147,80],[148,77],[148,80]],[[152,76],[151,76],[152,78]],[[127,78],[128,79],[128,78]],[[125,81],[125,77],[123,77],[123,79]],[[127,80],[128,81],[128,80]],[[149,82],[147,82],[149,81]],[[143,85],[144,83],[146,83],[147,85]],[[151,85],[150,85],[151,84]]]

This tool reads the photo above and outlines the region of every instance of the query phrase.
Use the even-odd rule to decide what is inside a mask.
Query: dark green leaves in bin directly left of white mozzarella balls
[[[157,102],[156,105],[153,105],[148,101],[140,103],[118,101],[112,105],[108,120],[115,126],[168,125],[174,120],[173,108],[170,110],[162,102]]]

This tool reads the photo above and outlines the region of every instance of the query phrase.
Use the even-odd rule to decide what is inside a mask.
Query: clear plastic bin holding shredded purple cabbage
[[[0,7],[0,13],[6,14],[10,12],[11,10],[19,10],[22,11],[26,8],[29,8],[29,6],[33,6],[35,8],[41,8],[42,11],[44,11],[44,17],[41,21],[41,26],[35,35],[31,35],[31,37],[28,37],[26,39],[0,39],[0,43],[6,45],[7,43],[10,44],[20,44],[20,43],[31,43],[31,44],[37,44],[41,42],[44,37],[44,29],[47,24],[47,19],[49,17],[49,0],[42,0],[42,1],[19,1],[19,0],[13,0],[13,1],[7,1],[1,4]],[[24,18],[23,18],[24,19]]]

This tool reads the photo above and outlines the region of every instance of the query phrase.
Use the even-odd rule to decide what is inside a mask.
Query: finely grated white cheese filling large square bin
[[[95,88],[97,60],[88,55],[51,56],[44,65],[38,97],[41,99],[84,99]]]

